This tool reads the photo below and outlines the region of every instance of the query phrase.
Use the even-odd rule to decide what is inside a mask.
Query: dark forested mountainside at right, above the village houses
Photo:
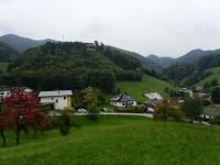
[[[209,68],[220,66],[220,53],[210,53],[201,56],[194,63],[174,64],[164,69],[161,75],[183,86],[191,86],[210,75]]]

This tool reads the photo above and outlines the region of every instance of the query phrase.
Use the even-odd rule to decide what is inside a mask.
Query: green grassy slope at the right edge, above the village
[[[197,86],[204,86],[206,81],[210,82],[213,79],[218,79],[218,81],[220,82],[220,67],[215,67],[215,68],[208,69],[207,72],[211,72],[211,75],[202,79],[201,81],[199,81]]]

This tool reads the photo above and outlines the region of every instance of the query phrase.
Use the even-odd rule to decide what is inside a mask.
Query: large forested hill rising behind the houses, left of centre
[[[141,63],[103,44],[46,43],[21,54],[2,74],[0,84],[34,89],[82,89],[110,91],[116,80],[141,80]]]

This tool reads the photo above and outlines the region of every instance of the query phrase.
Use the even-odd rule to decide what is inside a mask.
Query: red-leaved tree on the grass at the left
[[[16,92],[3,100],[3,105],[0,127],[2,123],[2,130],[10,127],[15,131],[16,144],[20,144],[20,132],[28,132],[28,127],[32,127],[35,134],[37,130],[51,127],[46,116],[41,111],[40,101],[34,92],[18,89]]]

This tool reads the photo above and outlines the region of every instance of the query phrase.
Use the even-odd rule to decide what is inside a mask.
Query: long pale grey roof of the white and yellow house
[[[38,94],[40,98],[43,97],[59,97],[59,96],[72,96],[72,90],[56,90],[56,91],[41,91]]]

